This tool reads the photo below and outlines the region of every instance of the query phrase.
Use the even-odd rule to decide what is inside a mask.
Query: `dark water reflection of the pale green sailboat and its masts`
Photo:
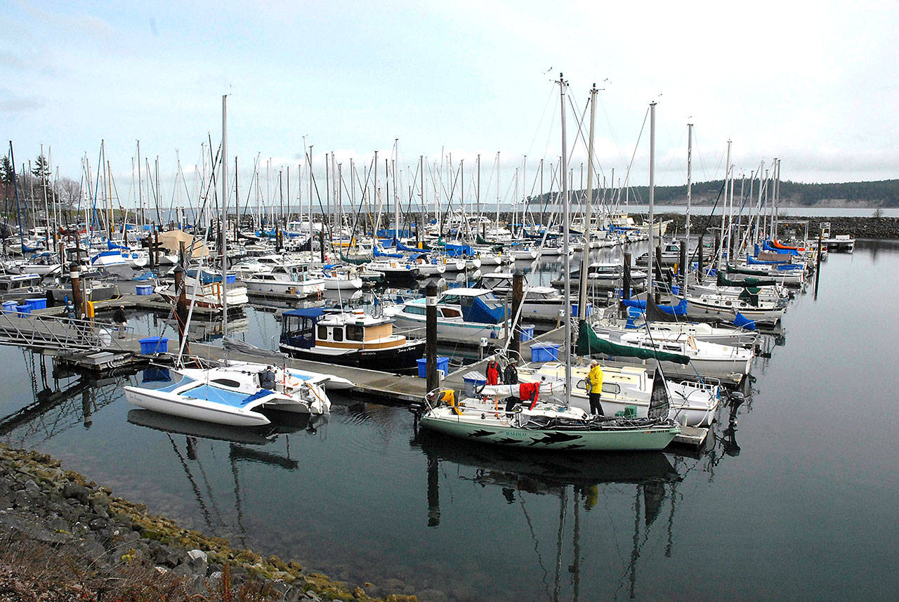
[[[669,512],[665,525],[665,555],[672,555],[674,512],[678,498],[676,487],[683,475],[672,465],[669,456],[662,452],[547,453],[473,445],[431,431],[418,432],[410,441],[410,447],[421,450],[427,465],[427,527],[441,527],[441,475],[446,480],[452,478],[448,475],[455,474],[459,481],[471,482],[485,489],[494,488],[497,498],[503,500],[505,505],[521,506],[525,518],[522,527],[530,530],[534,550],[537,551],[537,563],[544,575],[547,598],[554,602],[560,599],[564,581],[570,583],[573,600],[581,596],[584,557],[581,512],[594,510],[607,488],[619,492],[622,485],[633,487],[632,548],[627,565],[622,569],[619,589],[626,582],[628,598],[636,597],[637,561],[649,539],[650,530],[663,513],[666,500]],[[541,546],[537,541],[537,530],[527,512],[532,496],[554,496],[559,501],[555,558],[551,562],[539,552]],[[574,523],[568,534],[567,521],[570,517],[573,517]],[[568,536],[571,556],[570,562],[565,564],[569,547],[565,538]],[[565,578],[565,572],[570,578]],[[588,599],[592,599],[592,594],[588,595]]]

